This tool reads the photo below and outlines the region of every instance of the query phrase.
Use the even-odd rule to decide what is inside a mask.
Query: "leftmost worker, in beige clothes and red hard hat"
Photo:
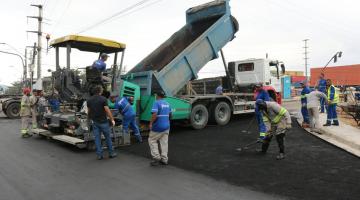
[[[23,138],[31,137],[29,134],[31,124],[31,102],[30,102],[30,88],[23,89],[23,96],[20,104],[21,117],[21,136]]]

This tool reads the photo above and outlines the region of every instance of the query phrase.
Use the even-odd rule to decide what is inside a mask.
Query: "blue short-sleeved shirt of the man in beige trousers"
[[[163,99],[155,101],[151,113],[156,113],[156,120],[153,123],[152,131],[164,132],[170,129],[171,108],[168,102]]]

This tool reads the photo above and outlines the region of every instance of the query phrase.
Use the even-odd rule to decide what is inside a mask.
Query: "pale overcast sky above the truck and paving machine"
[[[23,52],[37,41],[37,22],[26,16],[37,15],[31,3],[44,4],[43,44],[45,33],[51,38],[77,34],[140,0],[3,0],[0,7],[2,30],[0,43],[6,42]],[[82,35],[108,38],[127,45],[124,64],[127,69],[152,52],[185,24],[185,11],[209,0],[150,0],[131,13],[87,30]],[[360,1],[358,0],[231,0],[232,14],[239,21],[236,39],[224,48],[227,61],[247,58],[282,60],[289,70],[304,70],[303,40],[309,40],[309,65],[323,66],[337,51],[344,55],[336,65],[360,63]],[[12,51],[7,45],[0,50]],[[54,50],[43,54],[43,74],[55,69]],[[19,80],[21,62],[17,57],[0,53],[0,84]],[[74,52],[74,67],[91,64],[96,55]],[[65,61],[65,57],[62,57]],[[61,63],[64,66],[64,62]],[[223,75],[221,61],[214,60],[199,76]]]

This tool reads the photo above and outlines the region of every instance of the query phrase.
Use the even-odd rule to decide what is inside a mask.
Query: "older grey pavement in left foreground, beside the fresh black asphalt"
[[[0,200],[279,199],[173,166],[151,168],[123,152],[97,161],[94,152],[21,139],[19,125],[0,118]]]

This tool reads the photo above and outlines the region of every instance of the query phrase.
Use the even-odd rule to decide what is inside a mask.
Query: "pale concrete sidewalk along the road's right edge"
[[[297,117],[298,123],[302,124],[302,116],[299,112]],[[320,124],[326,122],[326,114],[320,114]],[[309,128],[305,129],[307,132],[319,137],[345,151],[360,157],[360,129],[344,124],[340,121],[339,126],[321,126],[320,132],[311,132]]]

